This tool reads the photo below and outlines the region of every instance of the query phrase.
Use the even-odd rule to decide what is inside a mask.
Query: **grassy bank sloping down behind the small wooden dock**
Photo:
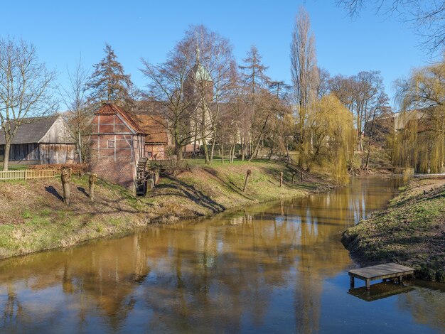
[[[342,242],[362,265],[397,262],[416,276],[445,281],[445,180],[412,180],[386,210],[343,233]]]

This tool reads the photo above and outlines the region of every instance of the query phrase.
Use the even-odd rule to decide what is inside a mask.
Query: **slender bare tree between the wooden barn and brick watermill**
[[[79,162],[85,159],[88,141],[84,140],[88,134],[91,109],[87,103],[87,79],[88,73],[82,66],[82,58],[75,65],[73,72],[68,72],[68,86],[62,87],[61,95],[67,108],[66,120],[70,127],[70,134],[76,144]]]

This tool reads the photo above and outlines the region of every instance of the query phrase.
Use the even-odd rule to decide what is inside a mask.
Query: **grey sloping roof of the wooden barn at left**
[[[50,117],[28,117],[22,120],[18,126],[17,133],[12,139],[11,144],[31,144],[38,143],[47,134],[51,126],[60,117],[60,115]],[[14,122],[11,124],[14,128]],[[0,145],[5,144],[3,129],[0,130]]]

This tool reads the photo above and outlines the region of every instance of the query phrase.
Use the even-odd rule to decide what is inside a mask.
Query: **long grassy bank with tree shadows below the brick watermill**
[[[257,161],[205,166],[161,178],[145,198],[98,181],[90,203],[87,176],[73,177],[70,205],[62,201],[59,179],[0,183],[0,258],[69,247],[98,237],[124,235],[153,222],[212,215],[244,205],[308,195],[331,187],[310,175],[291,185],[292,171],[280,163]],[[252,171],[242,192],[247,169]],[[279,173],[284,185],[279,187]]]

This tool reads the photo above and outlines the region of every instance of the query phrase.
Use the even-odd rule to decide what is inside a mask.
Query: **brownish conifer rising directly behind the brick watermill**
[[[117,55],[109,44],[105,44],[105,57],[93,65],[92,73],[87,84],[90,90],[89,102],[100,104],[112,102],[131,110],[134,104],[133,82],[130,75],[126,75]]]

